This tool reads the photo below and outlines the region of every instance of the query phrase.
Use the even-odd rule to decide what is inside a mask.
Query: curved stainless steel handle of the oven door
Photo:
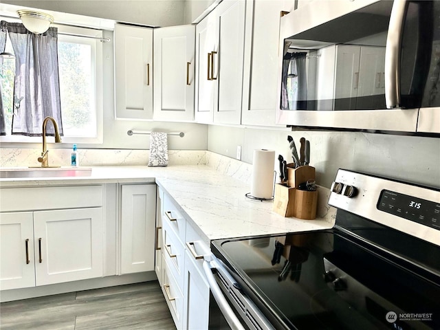
[[[217,281],[215,281],[214,274],[212,274],[213,270],[215,270],[219,265],[215,261],[203,261],[203,270],[206,275],[206,279],[208,280],[209,287],[211,289],[212,296],[214,296],[215,301],[219,305],[221,313],[225,317],[228,325],[232,330],[245,330],[239,318],[236,317],[234,311],[228,304],[228,300],[226,300],[225,296],[223,296],[223,292]]]

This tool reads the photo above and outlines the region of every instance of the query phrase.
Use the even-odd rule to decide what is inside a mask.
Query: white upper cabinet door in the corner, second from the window
[[[195,26],[154,30],[155,120],[194,118]]]

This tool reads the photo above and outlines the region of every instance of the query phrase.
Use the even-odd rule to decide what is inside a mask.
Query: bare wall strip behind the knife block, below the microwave
[[[310,141],[310,165],[316,168],[316,181],[322,186],[329,188],[338,168],[346,168],[440,187],[438,137],[209,126],[208,150],[234,158],[236,146],[241,145],[243,162],[252,164],[254,149],[267,148],[289,162],[287,135],[294,137],[297,148],[300,137]]]

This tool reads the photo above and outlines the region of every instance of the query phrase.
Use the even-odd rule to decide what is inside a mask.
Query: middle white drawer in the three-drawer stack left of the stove
[[[184,287],[184,263],[185,263],[185,248],[183,243],[179,240],[175,232],[169,227],[169,223],[162,224],[162,238],[163,250],[162,255],[168,263],[170,272],[182,290]]]

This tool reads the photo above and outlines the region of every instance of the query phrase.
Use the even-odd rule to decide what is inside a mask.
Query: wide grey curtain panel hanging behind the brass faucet
[[[21,23],[8,23],[15,54],[12,134],[41,136],[43,120],[52,116],[63,135],[58,76],[58,29],[33,34]],[[54,135],[52,125],[47,135]]]

